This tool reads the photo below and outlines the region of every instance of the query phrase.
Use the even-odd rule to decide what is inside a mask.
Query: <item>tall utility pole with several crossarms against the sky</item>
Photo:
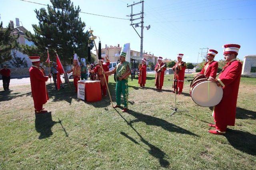
[[[138,13],[138,14],[133,14],[133,13],[132,13],[132,7],[133,7],[134,5],[138,5],[138,4],[142,4],[141,12]],[[139,34],[137,31],[136,31],[136,33],[137,33],[138,36],[140,37],[140,58],[143,58],[144,0],[142,0],[142,1],[140,1],[140,2],[137,2],[137,3],[134,3],[134,2],[133,2],[133,4],[131,4],[131,5],[128,5],[128,4],[127,4],[127,7],[131,7],[131,14],[130,14],[130,16],[129,16],[129,17],[130,17],[130,21],[131,21],[131,24],[130,24],[130,25],[132,25],[132,27],[133,27],[133,29],[134,29],[135,31],[136,31],[136,29],[135,29],[136,27],[141,27],[141,33]],[[140,18],[135,18],[135,19],[134,19],[134,16],[137,16],[137,15],[141,15]],[[138,22],[138,23],[133,23],[134,20],[139,20],[139,19],[141,19],[140,22]],[[139,23],[141,24],[141,26],[139,26]],[[134,27],[133,25],[135,25],[135,27]],[[146,28],[147,28],[147,30],[150,29],[150,25],[146,26]]]

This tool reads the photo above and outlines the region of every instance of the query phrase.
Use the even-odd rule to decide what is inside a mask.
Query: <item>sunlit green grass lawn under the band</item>
[[[47,84],[48,113],[35,115],[30,85],[0,88],[0,169],[256,169],[256,78],[241,78],[236,126],[218,136],[207,133],[212,111],[192,101],[190,82],[177,99],[188,112],[169,116],[172,76],[162,92],[154,74],[146,89],[129,79],[128,113],[111,108],[108,97],[78,100],[71,83],[59,92]]]

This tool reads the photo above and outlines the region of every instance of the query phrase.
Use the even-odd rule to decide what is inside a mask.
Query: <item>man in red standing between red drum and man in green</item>
[[[99,60],[99,62],[101,62],[103,70],[105,72],[107,72],[109,70],[108,66],[110,65],[110,62],[108,60],[108,57],[106,56],[107,62],[103,63],[104,59],[101,58]],[[97,73],[97,79],[100,80],[100,86],[101,86],[101,90],[104,96],[107,96],[107,86],[106,86],[106,82],[104,80],[104,75],[102,74],[102,69],[100,67],[100,64],[97,65],[96,67],[94,67],[93,70],[89,70],[90,74],[94,74]],[[106,77],[107,83],[108,83],[108,79]]]

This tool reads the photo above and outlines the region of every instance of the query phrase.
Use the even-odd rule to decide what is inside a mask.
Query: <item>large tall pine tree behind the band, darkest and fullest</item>
[[[50,0],[52,6],[35,10],[38,25],[33,24],[34,34],[27,32],[28,40],[35,46],[22,46],[22,52],[27,55],[39,55],[41,61],[46,61],[46,47],[50,52],[50,60],[55,60],[54,50],[64,64],[71,64],[74,52],[87,59],[89,33],[84,32],[85,23],[79,17],[79,6],[70,0]],[[93,43],[90,43],[91,49]]]

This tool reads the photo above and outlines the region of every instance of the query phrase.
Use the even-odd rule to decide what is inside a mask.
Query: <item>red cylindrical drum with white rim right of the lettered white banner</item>
[[[87,102],[98,102],[102,99],[100,81],[86,81],[85,94]]]

